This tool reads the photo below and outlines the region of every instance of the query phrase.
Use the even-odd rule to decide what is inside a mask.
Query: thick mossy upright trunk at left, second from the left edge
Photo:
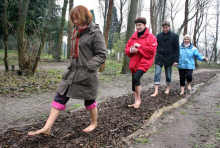
[[[19,0],[18,24],[17,24],[17,46],[18,63],[21,73],[30,74],[30,59],[27,56],[27,40],[25,39],[25,24],[30,0]]]

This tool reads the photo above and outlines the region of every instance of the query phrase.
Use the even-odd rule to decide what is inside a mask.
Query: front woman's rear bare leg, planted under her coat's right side
[[[85,128],[83,130],[83,132],[86,132],[86,133],[93,131],[97,127],[97,124],[98,124],[98,121],[97,121],[98,120],[97,107],[89,110],[89,112],[90,112],[90,117],[91,117],[91,123],[87,128]]]

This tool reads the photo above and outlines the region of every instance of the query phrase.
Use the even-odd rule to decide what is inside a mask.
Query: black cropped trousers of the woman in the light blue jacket
[[[192,69],[179,69],[180,86],[185,86],[185,82],[192,82]]]

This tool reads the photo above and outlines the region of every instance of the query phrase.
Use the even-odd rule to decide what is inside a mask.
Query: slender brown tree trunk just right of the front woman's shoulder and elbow
[[[104,31],[104,38],[105,38],[105,45],[106,48],[108,48],[108,34],[110,30],[110,25],[112,22],[112,8],[113,8],[113,0],[109,0],[108,4],[108,13],[107,13],[107,20],[106,20],[106,25],[105,25],[105,31]],[[105,63],[101,65],[99,71],[103,72],[105,70]]]

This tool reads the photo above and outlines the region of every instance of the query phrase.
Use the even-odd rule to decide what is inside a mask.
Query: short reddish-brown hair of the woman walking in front
[[[74,19],[77,19],[79,21],[80,25],[88,25],[92,22],[92,14],[91,12],[82,5],[76,6],[75,8],[72,8],[70,10],[70,22],[72,24]]]

